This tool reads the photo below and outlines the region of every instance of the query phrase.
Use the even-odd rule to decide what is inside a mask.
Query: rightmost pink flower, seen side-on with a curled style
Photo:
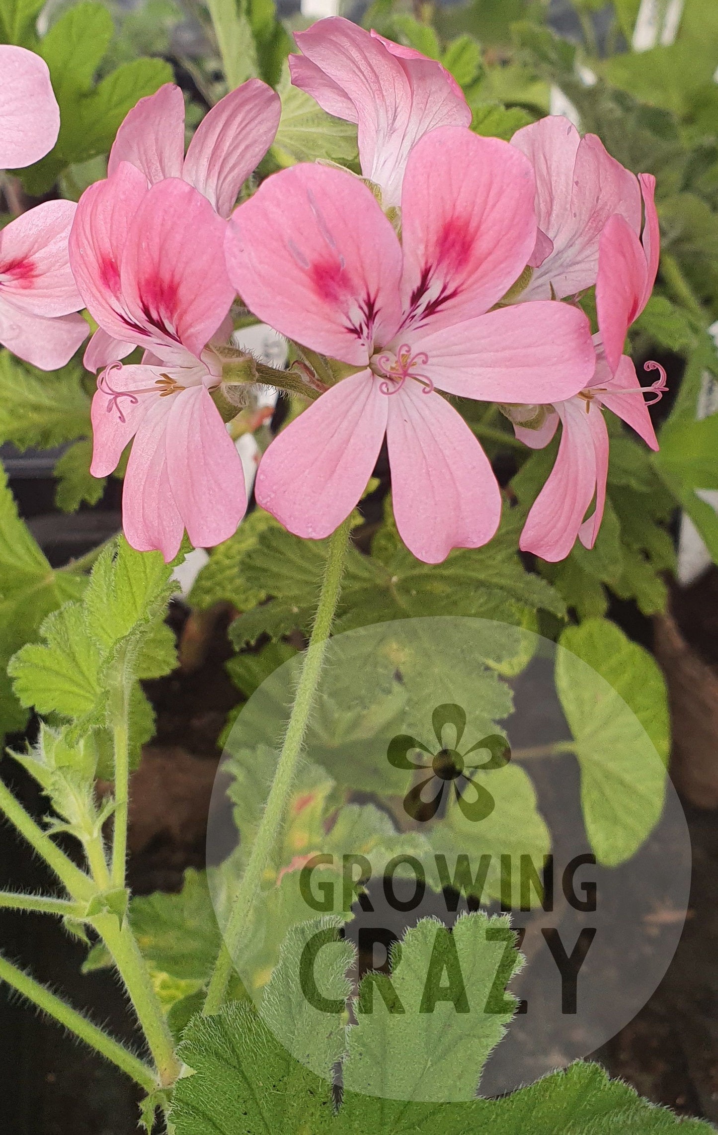
[[[641,387],[633,362],[623,354],[626,331],[648,303],[659,260],[656,178],[642,174],[640,182],[645,207],[642,243],[618,215],[609,218],[600,238],[595,285],[599,334],[594,336],[595,371],[591,381],[576,397],[555,403],[539,429],[514,426],[516,436],[526,445],[542,448],[561,422],[556,463],[521,536],[524,552],[551,562],[568,555],[576,536],[588,548],[593,547],[598,536],[608,476],[608,431],[601,406],[622,418],[651,449],[658,449],[643,395],[651,394],[651,401],[658,401],[666,388],[666,373],[658,363],[647,363],[647,370],[658,369],[660,377],[652,386]],[[584,520],[594,496],[593,513]]]

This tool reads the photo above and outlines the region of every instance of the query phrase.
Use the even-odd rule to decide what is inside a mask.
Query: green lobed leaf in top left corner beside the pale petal
[[[67,9],[37,44],[60,106],[60,135],[49,154],[18,171],[28,193],[47,193],[68,166],[107,153],[137,100],[171,82],[163,60],[134,59],[95,83],[112,34],[107,8],[86,2]]]

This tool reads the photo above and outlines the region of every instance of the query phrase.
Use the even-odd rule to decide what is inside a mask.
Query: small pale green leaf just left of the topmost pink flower
[[[336,161],[350,166],[357,158],[356,126],[332,118],[311,95],[292,85],[285,64],[277,87],[281,99],[281,118],[271,153],[280,166],[298,161]]]

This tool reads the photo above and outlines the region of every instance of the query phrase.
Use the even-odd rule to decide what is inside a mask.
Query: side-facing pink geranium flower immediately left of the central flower
[[[105,334],[145,348],[141,365],[113,363],[92,402],[95,477],[111,472],[134,437],[123,524],[134,548],[178,552],[234,533],[246,496],[242,462],[210,396],[221,379],[206,344],[234,289],[223,267],[226,226],[193,186],[146,177],[120,162],[85,191],[70,263]]]

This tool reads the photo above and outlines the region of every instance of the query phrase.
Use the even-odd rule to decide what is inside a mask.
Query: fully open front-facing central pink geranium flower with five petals
[[[260,464],[260,504],[298,536],[350,513],[386,436],[402,538],[437,563],[493,536],[489,461],[437,388],[488,401],[569,397],[593,370],[589,323],[555,302],[490,311],[535,243],[534,180],[515,148],[463,127],[412,151],[402,244],[350,174],[295,166],[229,224],[229,275],[261,319],[357,372],[313,402]],[[554,392],[551,398],[544,395]]]

